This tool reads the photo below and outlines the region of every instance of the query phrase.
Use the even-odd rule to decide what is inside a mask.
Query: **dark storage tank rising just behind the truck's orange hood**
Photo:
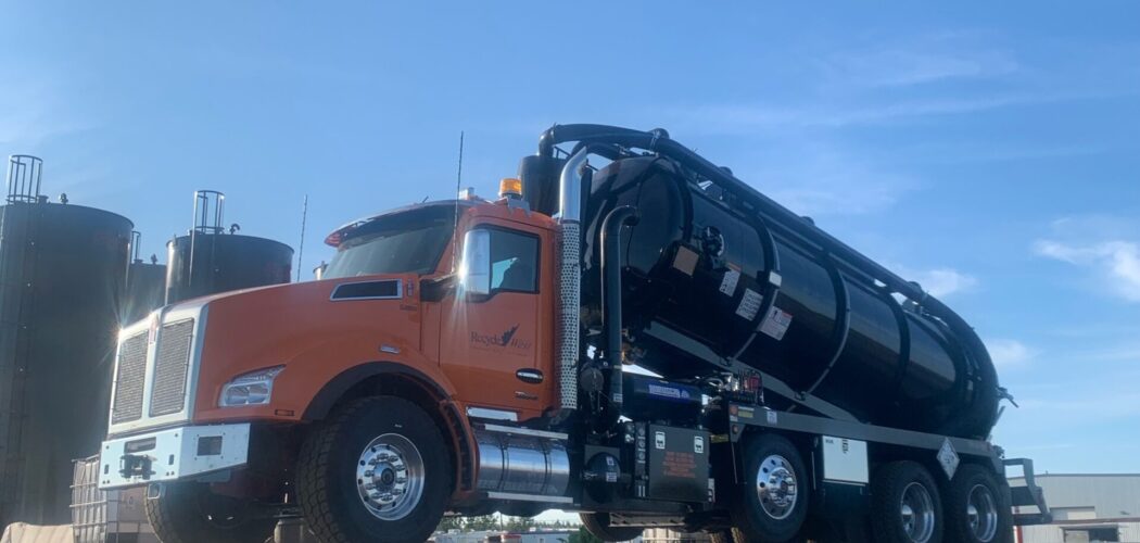
[[[194,228],[166,243],[166,303],[290,282],[293,249],[239,235],[237,225],[227,233],[225,202],[217,191],[194,194]]]

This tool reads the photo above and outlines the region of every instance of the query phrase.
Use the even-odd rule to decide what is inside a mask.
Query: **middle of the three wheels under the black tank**
[[[918,462],[890,462],[871,478],[871,526],[877,542],[940,543],[942,500]]]

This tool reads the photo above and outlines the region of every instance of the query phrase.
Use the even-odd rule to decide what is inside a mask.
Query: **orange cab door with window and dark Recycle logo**
[[[540,413],[540,240],[522,225],[479,225],[464,236],[461,286],[442,308],[440,365],[473,415]]]

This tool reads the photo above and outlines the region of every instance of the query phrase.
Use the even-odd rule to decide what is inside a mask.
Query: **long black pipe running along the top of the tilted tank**
[[[644,149],[677,161],[681,165],[719,185],[740,201],[751,205],[755,211],[775,219],[771,221],[769,227],[784,230],[819,245],[820,249],[831,253],[836,258],[836,265],[840,268],[865,276],[872,281],[881,282],[890,292],[913,300],[925,313],[942,319],[947,326],[961,334],[970,349],[985,358],[979,360],[980,363],[975,363],[974,370],[976,372],[994,372],[993,364],[988,359],[990,354],[985,349],[982,339],[978,338],[969,323],[945,303],[923,291],[918,284],[899,277],[879,262],[871,260],[817,228],[809,220],[765,196],[747,183],[734,177],[727,169],[709,162],[692,149],[670,139],[667,131],[657,129],[644,132],[605,124],[555,124],[539,137],[538,154],[553,156],[554,146],[567,141],[577,141],[576,149],[584,145],[593,147],[596,144],[601,144],[611,147],[625,147],[627,149]],[[992,382],[996,383],[996,375],[993,375],[993,378]],[[997,413],[997,405],[994,403],[992,406],[986,406],[986,408],[979,411],[990,412],[984,416],[992,419]]]

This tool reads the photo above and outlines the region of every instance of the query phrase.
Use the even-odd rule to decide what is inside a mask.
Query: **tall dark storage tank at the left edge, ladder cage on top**
[[[0,526],[70,522],[71,461],[106,428],[127,279],[131,221],[49,203],[41,164],[9,159],[0,206]]]

